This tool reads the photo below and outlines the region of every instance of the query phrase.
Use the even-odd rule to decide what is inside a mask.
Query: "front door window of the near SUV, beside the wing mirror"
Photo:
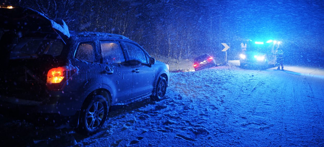
[[[137,60],[141,63],[148,63],[145,52],[133,43],[125,42],[125,46],[128,50],[129,60]]]

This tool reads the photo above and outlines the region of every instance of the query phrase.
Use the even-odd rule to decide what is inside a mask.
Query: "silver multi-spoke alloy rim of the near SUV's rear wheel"
[[[104,116],[104,105],[97,101],[91,105],[86,114],[86,124],[89,129],[96,129]]]

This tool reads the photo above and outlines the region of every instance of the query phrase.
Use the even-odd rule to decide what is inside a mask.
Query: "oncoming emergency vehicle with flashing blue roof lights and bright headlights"
[[[276,64],[275,50],[279,48],[282,43],[277,40],[267,41],[252,41],[249,40],[249,46],[245,52],[242,52],[240,56],[240,66],[252,66],[262,68],[272,68]]]

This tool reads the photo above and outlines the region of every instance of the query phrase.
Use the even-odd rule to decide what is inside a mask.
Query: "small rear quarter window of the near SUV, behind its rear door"
[[[96,47],[93,42],[82,42],[79,44],[75,58],[80,61],[96,62]]]

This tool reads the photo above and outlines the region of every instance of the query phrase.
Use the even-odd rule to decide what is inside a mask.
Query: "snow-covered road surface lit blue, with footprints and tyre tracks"
[[[324,146],[323,69],[285,68],[171,73],[164,100],[110,112],[93,136],[31,127],[13,137],[36,146]]]

